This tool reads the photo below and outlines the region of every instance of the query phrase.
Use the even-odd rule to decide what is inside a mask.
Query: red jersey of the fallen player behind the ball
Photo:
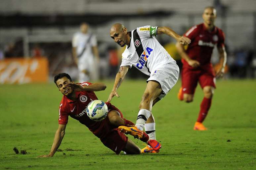
[[[81,86],[90,85],[92,83],[84,82],[79,83]],[[68,121],[68,116],[78,120],[81,124],[89,128],[93,134],[99,138],[106,136],[109,131],[106,128],[106,122],[108,119],[104,119],[100,122],[92,121],[86,114],[87,105],[93,101],[97,100],[97,96],[93,91],[79,91],[76,93],[76,101],[68,99],[65,95],[63,96],[60,109],[59,109],[59,124],[66,125]]]

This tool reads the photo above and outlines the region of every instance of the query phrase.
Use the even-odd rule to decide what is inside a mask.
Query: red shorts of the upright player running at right
[[[215,73],[212,65],[200,66],[196,69],[182,68],[182,90],[183,93],[194,94],[197,82],[201,88],[205,86],[215,86]]]

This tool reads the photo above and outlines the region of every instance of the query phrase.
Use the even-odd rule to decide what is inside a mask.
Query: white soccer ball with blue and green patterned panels
[[[101,100],[93,100],[88,104],[86,113],[91,120],[102,121],[107,117],[107,104]]]

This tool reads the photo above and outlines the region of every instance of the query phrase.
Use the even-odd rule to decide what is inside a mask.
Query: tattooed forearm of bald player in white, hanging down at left
[[[116,96],[118,98],[120,97],[116,91],[117,91],[118,87],[120,87],[128,69],[129,69],[129,66],[120,67],[119,71],[117,72],[117,74],[115,76],[114,86],[113,86],[113,89],[111,90],[111,93],[108,96],[107,102],[110,102],[114,96]]]

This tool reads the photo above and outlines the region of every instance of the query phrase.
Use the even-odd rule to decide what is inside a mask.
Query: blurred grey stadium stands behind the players
[[[117,48],[109,37],[113,23],[123,23],[128,29],[144,25],[169,26],[183,34],[202,22],[204,7],[213,5],[217,9],[215,24],[226,34],[228,65],[238,67],[233,60],[240,59],[241,55],[236,54],[242,51],[246,56],[244,76],[255,77],[255,0],[1,0],[0,53],[8,54],[11,49],[5,58],[12,54],[12,57],[31,58],[33,49],[39,46],[49,60],[52,76],[62,71],[60,68],[74,68],[71,39],[83,21],[89,23],[90,31],[96,34],[100,56],[106,63],[108,49]],[[173,42],[168,36],[159,36],[158,40],[162,44]],[[218,62],[216,50],[212,62]],[[74,69],[72,71],[75,74]],[[233,73],[228,75],[241,77]],[[107,74],[102,75],[105,76]]]

